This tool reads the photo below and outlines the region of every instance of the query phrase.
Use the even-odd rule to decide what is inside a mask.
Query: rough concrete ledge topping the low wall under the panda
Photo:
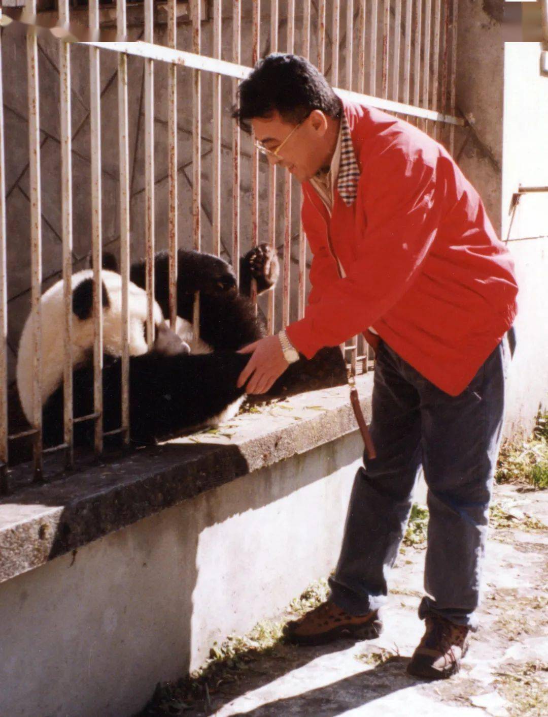
[[[370,417],[372,374],[357,379]],[[241,414],[218,432],[24,485],[0,500],[0,582],[247,473],[355,431],[347,386]]]

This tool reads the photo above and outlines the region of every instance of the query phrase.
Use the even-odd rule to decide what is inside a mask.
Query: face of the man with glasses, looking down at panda
[[[253,118],[251,126],[262,146],[270,152],[280,148],[277,156],[267,154],[269,162],[287,168],[297,181],[311,179],[324,165],[327,119],[320,110],[313,110],[300,125],[284,122],[274,111],[268,117]]]

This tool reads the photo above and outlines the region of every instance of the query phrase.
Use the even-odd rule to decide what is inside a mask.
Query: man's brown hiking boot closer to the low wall
[[[325,645],[338,637],[374,640],[383,631],[377,610],[365,615],[349,615],[334,602],[323,602],[303,617],[288,622],[284,636],[298,645]]]

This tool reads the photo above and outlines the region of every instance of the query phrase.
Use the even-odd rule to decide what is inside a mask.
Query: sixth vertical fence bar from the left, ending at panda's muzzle
[[[145,42],[154,42],[153,0],[145,0]],[[145,59],[145,287],[147,344],[154,344],[154,60]]]

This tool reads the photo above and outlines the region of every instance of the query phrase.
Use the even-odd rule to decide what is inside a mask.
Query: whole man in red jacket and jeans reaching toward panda
[[[517,286],[481,199],[413,125],[342,102],[302,57],[272,54],[240,85],[234,117],[303,189],[312,250],[304,318],[252,353],[239,379],[263,393],[300,352],[364,332],[376,347],[371,434],[355,478],[330,598],[287,627],[302,644],[376,637],[388,569],[420,465],[428,549],[426,632],[408,665],[455,673],[476,629]]]

